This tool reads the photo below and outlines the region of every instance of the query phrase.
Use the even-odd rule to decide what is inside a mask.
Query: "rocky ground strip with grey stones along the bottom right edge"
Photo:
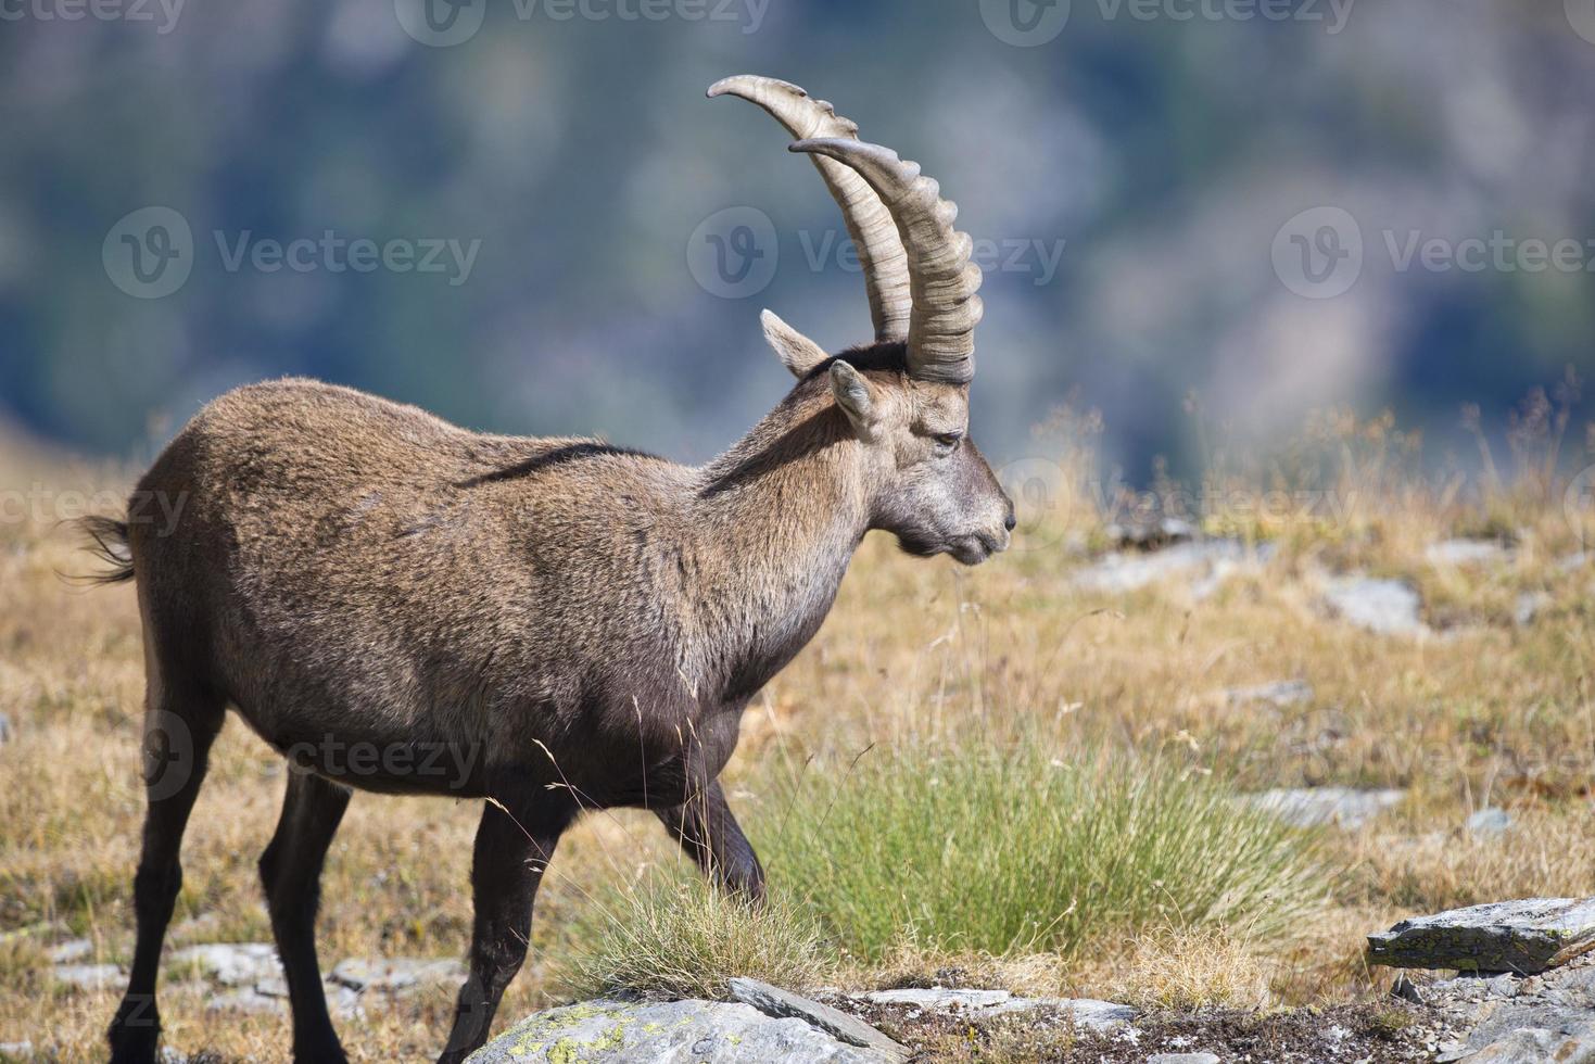
[[[1595,900],[1528,900],[1404,920],[1370,959],[1506,965],[1402,976],[1330,1008],[1137,1011],[955,986],[796,995],[732,979],[734,1002],[598,1000],[538,1013],[475,1064],[1054,1061],[1057,1064],[1558,1064],[1595,1061]]]

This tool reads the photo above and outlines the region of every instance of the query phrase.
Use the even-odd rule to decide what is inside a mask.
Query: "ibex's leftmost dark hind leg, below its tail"
[[[153,638],[145,632],[145,638]],[[211,743],[222,729],[225,705],[193,676],[158,664],[145,654],[147,694],[144,715],[144,785],[147,810],[139,871],[132,881],[137,943],[128,992],[110,1024],[113,1064],[150,1064],[161,1035],[155,1008],[155,979],[161,943],[172,906],[183,884],[179,850],[183,828],[204,783]]]

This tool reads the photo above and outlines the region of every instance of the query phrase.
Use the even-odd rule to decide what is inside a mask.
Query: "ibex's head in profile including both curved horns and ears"
[[[799,380],[823,373],[869,455],[871,526],[917,555],[976,565],[1008,547],[1013,501],[968,434],[981,270],[952,228],[959,209],[890,148],[796,85],[738,75],[710,96],[740,96],[798,137],[858,246],[876,341],[829,356],[764,311],[764,335]]]

